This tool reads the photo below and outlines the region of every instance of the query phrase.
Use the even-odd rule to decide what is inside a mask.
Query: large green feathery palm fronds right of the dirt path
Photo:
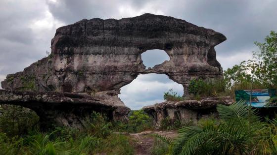
[[[261,122],[257,111],[239,101],[218,105],[221,121],[185,126],[176,139],[155,136],[155,155],[276,155],[277,120]]]

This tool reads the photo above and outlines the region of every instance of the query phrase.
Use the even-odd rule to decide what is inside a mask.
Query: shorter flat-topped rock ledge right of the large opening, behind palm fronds
[[[171,122],[180,120],[182,123],[196,124],[200,118],[217,117],[217,104],[230,105],[231,97],[208,97],[201,100],[165,101],[143,107],[143,111],[152,116],[155,126],[160,127],[161,121],[170,118]]]

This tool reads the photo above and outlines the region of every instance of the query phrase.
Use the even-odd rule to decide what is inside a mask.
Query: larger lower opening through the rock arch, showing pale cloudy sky
[[[164,93],[173,89],[183,95],[183,86],[169,79],[165,74],[141,74],[130,84],[121,88],[120,99],[132,110],[164,101]]]

